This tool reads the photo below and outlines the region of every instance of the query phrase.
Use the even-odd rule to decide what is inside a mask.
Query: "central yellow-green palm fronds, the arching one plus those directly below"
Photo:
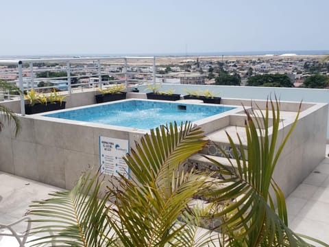
[[[202,131],[191,123],[160,126],[141,145],[136,143],[136,151],[125,157],[134,175],[122,177],[117,189],[109,188],[116,205],[109,221],[123,246],[186,246],[195,241],[191,222],[182,224],[178,218],[204,189],[206,178],[184,172],[180,165],[205,144]]]

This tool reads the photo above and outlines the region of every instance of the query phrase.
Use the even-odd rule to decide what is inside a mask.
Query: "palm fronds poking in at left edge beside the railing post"
[[[8,90],[10,91],[10,93],[20,93],[20,90],[16,86],[4,81],[0,81],[0,89]],[[11,121],[14,121],[15,134],[17,135],[19,133],[19,130],[21,129],[19,118],[12,110],[0,104],[0,131],[4,127],[4,122],[7,122],[7,124],[9,125]]]

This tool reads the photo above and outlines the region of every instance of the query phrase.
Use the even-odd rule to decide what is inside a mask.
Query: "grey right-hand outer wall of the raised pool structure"
[[[326,155],[327,119],[328,104],[315,104],[300,113],[273,174],[285,196],[289,196],[323,161]],[[278,133],[278,142],[283,141],[292,121],[283,121],[284,128]]]

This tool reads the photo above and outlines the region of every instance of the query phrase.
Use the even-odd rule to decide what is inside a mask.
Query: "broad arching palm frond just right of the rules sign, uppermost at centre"
[[[160,126],[136,143],[136,151],[131,150],[125,162],[139,183],[162,183],[162,176],[178,169],[186,158],[202,149],[206,144],[203,137],[202,130],[193,128],[191,122],[180,127]]]

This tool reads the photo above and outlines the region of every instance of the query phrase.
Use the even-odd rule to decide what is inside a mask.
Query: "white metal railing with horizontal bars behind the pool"
[[[132,62],[137,60],[137,62]],[[143,60],[143,64],[138,63]],[[73,90],[85,88],[99,88],[109,84],[128,83],[143,84],[156,82],[156,57],[93,57],[93,58],[40,58],[21,60],[0,60],[0,65],[17,65],[10,71],[0,70],[0,80],[8,78],[23,92],[34,89],[45,91],[47,89],[61,89],[69,94]],[[42,66],[40,66],[42,65]],[[149,72],[143,71],[145,68]],[[42,73],[60,73],[52,76],[42,76]],[[134,78],[134,75],[143,75],[143,79]],[[15,78],[16,76],[16,78]],[[86,80],[83,80],[86,79]],[[43,84],[41,84],[43,82]],[[8,91],[0,91],[1,98],[10,98]],[[18,97],[18,95],[16,95]],[[25,115],[24,97],[21,97],[21,114]]]

